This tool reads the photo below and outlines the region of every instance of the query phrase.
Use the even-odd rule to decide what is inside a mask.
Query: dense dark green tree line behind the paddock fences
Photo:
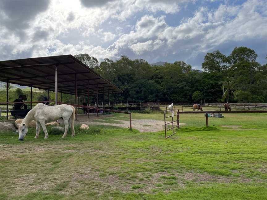
[[[207,53],[202,70],[183,62],[150,65],[146,60],[121,56],[98,62],[88,54],[75,55],[91,69],[123,90],[117,100],[136,102],[267,102],[267,64],[257,54],[235,47],[229,56]],[[266,56],[267,59],[267,56]]]

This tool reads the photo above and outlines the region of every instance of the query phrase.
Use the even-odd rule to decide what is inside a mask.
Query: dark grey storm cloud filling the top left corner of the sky
[[[48,9],[50,0],[1,0],[0,24],[23,37],[36,15]]]

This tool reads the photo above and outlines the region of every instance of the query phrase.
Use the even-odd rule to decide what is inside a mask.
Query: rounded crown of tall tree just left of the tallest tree
[[[205,72],[220,72],[228,68],[228,60],[221,52],[214,51],[207,53],[202,63],[202,69]]]

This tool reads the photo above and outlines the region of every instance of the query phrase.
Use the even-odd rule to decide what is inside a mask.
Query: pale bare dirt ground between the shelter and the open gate
[[[125,117],[126,120],[111,117],[110,119],[116,123],[105,123],[104,119],[107,119],[107,117],[103,115],[99,115],[98,117],[90,116],[90,118],[87,115],[78,115],[77,118],[78,120],[75,121],[76,124],[116,126],[122,128],[129,128],[130,126],[128,117]],[[103,120],[103,122],[99,122],[100,120]],[[185,123],[180,123],[180,125],[185,125]],[[162,131],[164,129],[164,121],[155,119],[132,119],[132,128],[140,132]]]

